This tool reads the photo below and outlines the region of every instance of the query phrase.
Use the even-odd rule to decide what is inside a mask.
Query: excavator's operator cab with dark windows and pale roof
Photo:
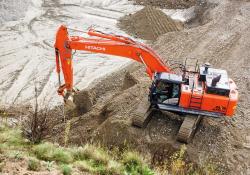
[[[156,73],[150,88],[150,102],[156,104],[178,105],[182,76],[171,73]]]

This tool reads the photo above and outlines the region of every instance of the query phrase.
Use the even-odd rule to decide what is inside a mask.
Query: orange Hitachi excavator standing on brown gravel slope
[[[73,89],[72,51],[83,50],[129,58],[145,65],[152,79],[149,95],[138,104],[132,123],[146,127],[154,111],[180,114],[184,121],[177,140],[188,143],[204,116],[232,117],[238,102],[237,86],[226,70],[210,64],[182,64],[181,74],[166,66],[148,46],[128,37],[106,34],[90,29],[91,37],[69,36],[68,28],[61,26],[56,34],[56,69],[59,77],[58,93],[67,102]],[[192,60],[191,60],[192,61]],[[61,84],[62,69],[65,84]]]

